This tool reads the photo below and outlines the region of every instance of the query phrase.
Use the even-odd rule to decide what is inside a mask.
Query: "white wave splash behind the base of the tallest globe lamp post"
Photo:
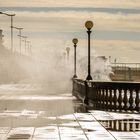
[[[87,57],[82,57],[78,61],[79,77],[87,77]],[[92,56],[91,57],[91,76],[94,81],[110,81],[110,74],[112,74],[112,68],[109,61],[104,56]]]

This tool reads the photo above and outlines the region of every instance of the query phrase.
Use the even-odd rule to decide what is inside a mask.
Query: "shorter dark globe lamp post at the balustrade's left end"
[[[73,75],[73,78],[77,78],[77,75],[76,75],[76,47],[77,47],[78,39],[74,38],[72,40],[72,42],[74,44],[74,75]]]

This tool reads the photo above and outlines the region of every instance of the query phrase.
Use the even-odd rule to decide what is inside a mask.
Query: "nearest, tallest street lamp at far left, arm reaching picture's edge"
[[[13,52],[13,16],[15,16],[15,14],[7,14],[4,12],[0,12],[0,14],[11,17],[11,52]]]

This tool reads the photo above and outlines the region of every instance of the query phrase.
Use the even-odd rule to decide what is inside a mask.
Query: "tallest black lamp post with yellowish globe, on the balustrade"
[[[90,34],[91,34],[91,28],[93,27],[93,22],[86,21],[85,27],[87,28],[87,33],[88,33],[88,76],[86,80],[92,80],[92,77],[90,74]]]

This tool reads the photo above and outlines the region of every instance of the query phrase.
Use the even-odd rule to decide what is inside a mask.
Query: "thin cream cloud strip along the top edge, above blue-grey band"
[[[46,7],[120,7],[140,8],[139,0],[4,0],[2,6]]]

